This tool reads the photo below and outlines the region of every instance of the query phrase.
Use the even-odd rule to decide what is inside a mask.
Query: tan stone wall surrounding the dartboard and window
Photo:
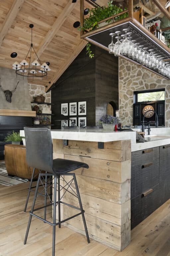
[[[170,126],[170,81],[119,58],[119,113],[123,125],[133,125],[133,92],[165,88],[165,126]]]

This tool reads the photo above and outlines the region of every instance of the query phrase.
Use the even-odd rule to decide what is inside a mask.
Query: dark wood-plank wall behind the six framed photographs
[[[95,46],[92,51],[90,59],[84,48],[51,89],[53,129],[60,129],[55,120],[61,118],[61,103],[87,101],[87,125],[92,126],[106,114],[109,101],[118,104],[118,58]]]

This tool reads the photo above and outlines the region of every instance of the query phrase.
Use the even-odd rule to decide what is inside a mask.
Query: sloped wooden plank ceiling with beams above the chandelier
[[[106,2],[98,0],[100,5]],[[85,8],[91,5],[86,2]],[[50,62],[51,71],[43,80],[28,82],[47,85],[48,90],[87,44],[73,27],[75,21],[80,21],[79,0],[0,0],[0,66],[12,68],[15,61],[25,59],[33,23],[33,46],[42,63]],[[17,52],[16,58],[10,57],[12,52]]]

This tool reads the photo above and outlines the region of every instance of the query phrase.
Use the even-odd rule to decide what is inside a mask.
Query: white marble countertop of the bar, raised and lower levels
[[[146,135],[144,143],[136,143],[136,131],[104,131],[104,130],[85,130],[76,131],[51,130],[52,139],[62,140],[79,140],[79,141],[96,141],[110,142],[119,140],[131,140],[131,152],[163,146],[170,144],[170,128],[151,128],[151,135]],[[145,129],[147,134],[147,129]],[[20,136],[24,137],[24,130],[20,131]]]

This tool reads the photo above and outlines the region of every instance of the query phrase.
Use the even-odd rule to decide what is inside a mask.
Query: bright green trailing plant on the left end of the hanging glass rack
[[[109,18],[110,16],[113,16],[115,14],[123,12],[122,8],[120,8],[117,5],[114,5],[112,3],[113,3],[113,0],[107,2],[108,6],[96,6],[95,8],[92,8],[91,10],[89,10],[89,17],[84,19],[83,26],[79,26],[78,30],[91,31],[91,30],[95,29],[96,27],[99,27],[99,24],[98,24],[99,21],[102,21],[106,18]],[[125,8],[125,10],[126,10],[126,8]],[[128,12],[115,17],[114,21],[118,21],[118,20],[121,20],[126,17],[128,17]],[[102,24],[104,26],[110,22],[113,22],[113,18],[109,19],[105,22],[102,22],[100,24]],[[87,54],[89,54],[89,57],[93,58],[94,54],[92,54],[92,52],[90,50],[90,46],[91,46],[91,44],[88,43],[86,46],[86,50],[87,50]]]

